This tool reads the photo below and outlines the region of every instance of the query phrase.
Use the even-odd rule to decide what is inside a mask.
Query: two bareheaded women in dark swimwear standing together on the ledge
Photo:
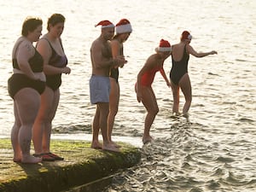
[[[65,17],[54,14],[42,38],[43,21],[26,18],[12,52],[13,74],[8,80],[14,100],[15,124],[11,131],[14,161],[38,163],[63,160],[49,150],[52,120],[60,100],[61,74],[69,74],[61,44]],[[38,42],[34,47],[33,43]],[[30,154],[33,142],[35,154]]]

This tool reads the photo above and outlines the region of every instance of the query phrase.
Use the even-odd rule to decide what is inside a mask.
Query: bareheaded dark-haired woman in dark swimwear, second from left
[[[64,29],[65,17],[54,14],[49,17],[48,32],[38,41],[38,52],[44,58],[44,73],[46,75],[46,87],[41,96],[41,107],[33,127],[33,144],[35,156],[43,160],[63,160],[49,150],[52,120],[60,100],[61,74],[69,74],[71,69],[67,67],[67,56],[61,44],[61,34]]]

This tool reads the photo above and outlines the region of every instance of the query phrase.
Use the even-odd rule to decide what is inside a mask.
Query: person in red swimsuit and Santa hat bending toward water
[[[151,142],[153,139],[150,136],[149,131],[154,122],[156,114],[159,112],[154,90],[151,86],[154,81],[155,73],[160,71],[162,77],[166,81],[167,86],[171,86],[163,67],[164,61],[166,61],[166,59],[171,55],[171,44],[168,41],[161,39],[160,45],[155,49],[155,51],[156,53],[148,57],[145,65],[137,74],[137,84],[135,86],[137,92],[137,101],[143,102],[144,107],[148,111],[144,123],[144,144]]]

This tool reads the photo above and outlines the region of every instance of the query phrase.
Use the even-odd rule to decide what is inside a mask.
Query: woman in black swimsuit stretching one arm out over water
[[[204,57],[207,55],[217,54],[215,50],[206,53],[198,53],[190,45],[192,36],[189,32],[184,31],[181,36],[179,44],[172,45],[172,70],[170,73],[170,79],[172,84],[173,95],[173,115],[178,115],[179,105],[179,88],[183,91],[185,97],[185,104],[183,106],[183,116],[189,118],[189,108],[192,101],[191,84],[188,74],[189,55],[195,57]]]

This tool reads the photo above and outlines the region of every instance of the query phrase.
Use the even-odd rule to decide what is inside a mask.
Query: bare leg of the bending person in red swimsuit
[[[156,114],[159,112],[154,91],[151,87],[143,87],[143,105],[148,111],[144,123],[143,143],[148,143],[152,140],[149,134],[151,125],[154,122]]]

